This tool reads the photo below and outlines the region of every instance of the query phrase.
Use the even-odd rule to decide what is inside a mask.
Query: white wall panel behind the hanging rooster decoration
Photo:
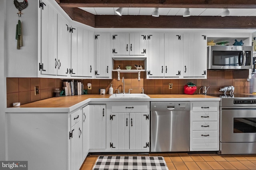
[[[0,0],[2,1],[2,0]],[[6,76],[7,77],[37,77],[38,69],[38,0],[29,0],[28,7],[22,10],[23,47],[16,49],[16,24],[18,9],[13,0],[6,1]],[[19,0],[20,2],[20,0]],[[31,61],[31,62],[28,62]],[[30,63],[35,63],[31,65]],[[36,64],[37,63],[37,64]],[[26,68],[26,74],[24,69]],[[10,76],[11,75],[11,76]]]

